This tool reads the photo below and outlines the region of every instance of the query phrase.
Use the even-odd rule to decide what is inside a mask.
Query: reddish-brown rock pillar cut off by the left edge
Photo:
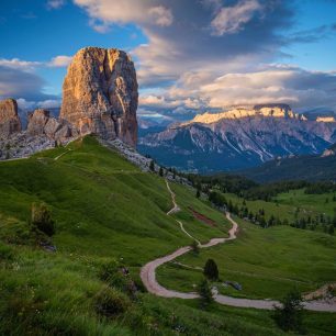
[[[0,138],[21,131],[18,104],[14,99],[0,101]]]

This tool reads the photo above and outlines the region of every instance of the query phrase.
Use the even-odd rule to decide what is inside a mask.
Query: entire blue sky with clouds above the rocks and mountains
[[[81,47],[128,52],[138,113],[266,102],[336,110],[334,0],[2,0],[0,97],[57,107]]]

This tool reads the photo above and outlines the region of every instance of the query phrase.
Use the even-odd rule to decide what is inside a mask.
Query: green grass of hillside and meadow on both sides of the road
[[[191,243],[175,219],[202,242],[226,236],[229,228],[224,215],[198,200],[193,190],[175,183],[171,189],[182,211],[167,216],[172,204],[165,180],[142,172],[93,137],[0,163],[0,335],[284,335],[270,312],[219,304],[202,311],[198,300],[167,300],[145,292],[141,267]],[[52,211],[56,253],[32,237],[33,202],[44,202]],[[197,220],[189,208],[215,225]],[[242,282],[239,295],[249,298],[279,298],[293,283],[283,278],[300,281],[302,291],[335,279],[334,237],[240,224],[236,242],[180,261],[203,266],[213,257],[221,278]],[[138,288],[135,300],[99,276],[111,260],[130,269]],[[169,265],[159,269],[158,279],[190,291],[200,276]],[[127,309],[101,315],[97,298],[110,287]],[[310,335],[332,335],[331,327],[336,328],[335,314],[307,312],[305,320]]]

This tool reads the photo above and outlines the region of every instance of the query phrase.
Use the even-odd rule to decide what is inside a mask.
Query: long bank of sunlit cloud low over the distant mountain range
[[[290,65],[264,65],[249,72],[214,77],[209,72],[183,74],[177,85],[160,94],[147,94],[142,107],[172,114],[226,110],[261,103],[288,103],[293,108],[335,107],[336,75],[307,71]]]

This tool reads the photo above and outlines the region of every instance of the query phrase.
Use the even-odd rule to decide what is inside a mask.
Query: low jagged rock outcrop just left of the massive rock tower
[[[58,121],[47,110],[38,109],[29,115],[26,133],[30,136],[46,136],[58,143],[77,136],[76,130],[67,121]]]

